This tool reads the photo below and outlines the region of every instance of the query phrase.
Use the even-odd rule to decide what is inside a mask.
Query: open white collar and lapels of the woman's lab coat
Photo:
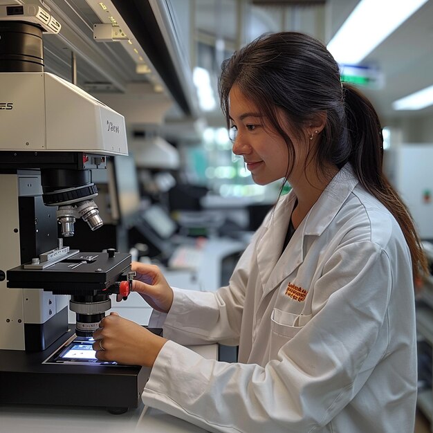
[[[277,205],[266,223],[266,233],[257,245],[257,266],[264,287],[263,297],[302,264],[306,254],[305,237],[320,236],[324,232],[357,184],[358,178],[347,163],[333,177],[302,220],[289,243],[291,248],[287,248],[283,254],[281,252],[288,221],[296,202],[293,190]]]

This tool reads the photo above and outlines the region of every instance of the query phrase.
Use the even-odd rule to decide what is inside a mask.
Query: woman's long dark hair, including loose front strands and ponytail
[[[414,222],[383,174],[383,136],[376,110],[355,87],[340,82],[338,64],[317,39],[302,33],[262,35],[221,65],[221,109],[230,125],[229,93],[233,84],[286,140],[293,170],[295,149],[277,111],[301,136],[308,122],[325,113],[326,125],[315,148],[315,167],[341,168],[350,162],[363,187],[394,215],[409,246],[414,277],[427,272],[427,261]],[[325,173],[322,173],[325,174]]]

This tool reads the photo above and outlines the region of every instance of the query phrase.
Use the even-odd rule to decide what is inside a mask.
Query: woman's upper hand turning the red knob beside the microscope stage
[[[131,270],[137,273],[132,282],[132,291],[140,293],[147,304],[156,311],[168,313],[173,303],[173,290],[160,268],[156,265],[133,261]]]

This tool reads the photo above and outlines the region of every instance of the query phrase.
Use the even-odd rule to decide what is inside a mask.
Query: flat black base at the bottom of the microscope
[[[138,407],[150,369],[42,363],[72,337],[68,332],[41,352],[0,350],[0,404],[104,407],[112,413]]]

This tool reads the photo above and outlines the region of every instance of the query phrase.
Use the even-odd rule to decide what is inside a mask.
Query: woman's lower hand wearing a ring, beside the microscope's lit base
[[[93,333],[93,350],[102,361],[116,361],[125,365],[152,367],[167,340],[131,320],[110,313]]]

